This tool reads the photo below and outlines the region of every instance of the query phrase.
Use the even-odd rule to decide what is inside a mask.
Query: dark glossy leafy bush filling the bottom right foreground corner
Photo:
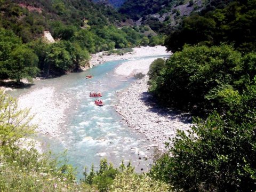
[[[197,118],[190,131],[178,131],[170,147],[151,169],[154,178],[186,191],[253,191],[255,189],[256,79],[242,94],[225,100],[225,116]],[[239,109],[242,108],[242,109]]]

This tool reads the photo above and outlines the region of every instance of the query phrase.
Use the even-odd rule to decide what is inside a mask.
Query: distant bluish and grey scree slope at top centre
[[[170,29],[178,27],[183,18],[193,13],[222,9],[229,2],[231,1],[127,0],[118,11],[134,20],[137,25],[149,25],[157,33],[169,34]]]

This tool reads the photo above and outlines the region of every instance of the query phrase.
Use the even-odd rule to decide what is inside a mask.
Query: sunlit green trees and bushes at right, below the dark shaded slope
[[[254,191],[255,61],[255,52],[226,44],[186,45],[151,76],[150,91],[166,105],[208,115],[166,143],[151,177],[177,190]]]

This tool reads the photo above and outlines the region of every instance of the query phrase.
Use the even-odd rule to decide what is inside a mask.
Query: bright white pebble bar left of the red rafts
[[[43,87],[19,97],[21,109],[30,108],[34,115],[31,124],[37,124],[37,132],[58,137],[62,134],[60,125],[65,124],[65,110],[70,106],[68,95],[55,95],[54,87]]]

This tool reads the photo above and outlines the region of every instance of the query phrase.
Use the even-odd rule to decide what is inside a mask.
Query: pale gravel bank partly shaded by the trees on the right
[[[177,130],[188,130],[191,117],[156,106],[148,90],[148,76],[138,80],[126,90],[117,92],[116,112],[125,124],[145,135],[152,145],[165,151],[165,142],[174,138]]]

